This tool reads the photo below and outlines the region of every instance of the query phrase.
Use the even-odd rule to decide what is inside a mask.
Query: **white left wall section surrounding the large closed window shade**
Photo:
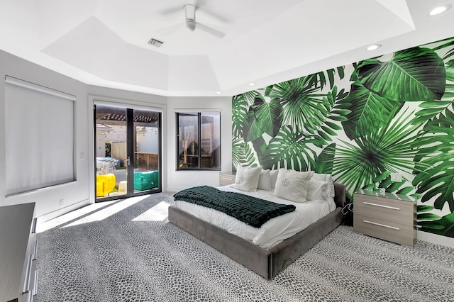
[[[57,74],[49,69],[32,64],[26,60],[10,55],[0,50],[0,206],[16,203],[36,202],[36,215],[43,216],[47,213],[70,211],[71,208],[89,203],[89,171],[88,171],[88,141],[89,127],[87,119],[87,85],[69,77]],[[77,181],[40,189],[26,194],[6,196],[6,170],[5,170],[5,76],[16,77],[24,81],[49,87],[58,91],[76,96],[74,102],[74,155],[76,157],[75,173]],[[27,108],[23,108],[27,110]],[[23,121],[27,123],[27,121]],[[58,147],[58,146],[55,146]],[[33,152],[33,150],[32,150]],[[25,174],[26,167],[18,167],[8,173]],[[60,206],[62,200],[62,206]]]

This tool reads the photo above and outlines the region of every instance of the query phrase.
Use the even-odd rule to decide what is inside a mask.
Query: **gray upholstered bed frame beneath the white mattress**
[[[264,249],[171,206],[169,221],[266,279],[272,279],[342,223],[345,186],[334,184],[336,210],[279,244]]]

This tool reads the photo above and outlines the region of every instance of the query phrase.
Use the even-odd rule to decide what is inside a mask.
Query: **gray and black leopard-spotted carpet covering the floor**
[[[40,225],[37,301],[454,301],[448,247],[340,226],[267,281],[167,223],[170,203],[96,203]]]

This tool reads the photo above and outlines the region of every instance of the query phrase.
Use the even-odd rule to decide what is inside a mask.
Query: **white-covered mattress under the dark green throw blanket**
[[[266,249],[304,230],[311,223],[316,222],[336,208],[333,198],[328,201],[294,203],[293,201],[272,196],[272,191],[258,189],[256,192],[244,192],[233,189],[230,186],[221,186],[218,189],[255,196],[275,203],[292,204],[296,207],[295,211],[272,218],[264,223],[262,227],[254,228],[212,208],[205,208],[186,201],[175,202],[177,208]]]

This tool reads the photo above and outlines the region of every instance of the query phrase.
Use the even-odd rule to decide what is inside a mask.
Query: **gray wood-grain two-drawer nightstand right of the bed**
[[[354,194],[353,230],[383,240],[414,246],[416,199],[380,191]]]

